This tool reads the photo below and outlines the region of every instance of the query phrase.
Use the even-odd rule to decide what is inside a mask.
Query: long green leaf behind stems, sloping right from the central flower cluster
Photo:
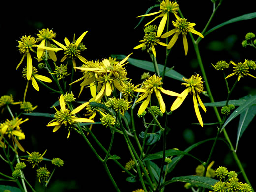
[[[126,56],[125,55],[111,55],[111,57],[116,57],[118,60],[122,60]],[[129,64],[131,64],[133,66],[142,68],[147,71],[155,72],[152,62],[145,61],[145,60],[138,60],[138,59],[134,59],[134,58],[129,58],[127,61],[129,62]],[[158,68],[159,68],[159,72],[161,73],[163,71],[164,66],[162,64],[158,64]],[[183,75],[181,75],[180,73],[178,73],[177,71],[175,71],[169,67],[166,67],[165,76],[179,80],[179,81],[183,81],[182,78],[184,77]]]

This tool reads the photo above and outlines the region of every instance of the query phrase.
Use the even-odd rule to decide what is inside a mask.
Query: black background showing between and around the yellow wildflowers
[[[142,22],[143,25],[140,25],[136,29],[134,29],[134,27],[139,22],[139,19],[136,17],[144,14],[148,7],[153,6],[156,3],[155,0],[84,1],[83,3],[80,1],[68,1],[66,3],[51,1],[48,3],[49,4],[39,4],[35,2],[23,2],[20,4],[7,3],[5,7],[2,7],[2,10],[6,9],[7,12],[1,11],[0,13],[2,45],[0,96],[12,94],[15,101],[23,99],[26,81],[24,81],[21,76],[21,70],[22,67],[25,66],[26,61],[23,62],[16,71],[16,66],[22,57],[17,49],[17,40],[23,35],[35,36],[38,30],[42,28],[53,29],[54,32],[57,33],[56,40],[63,44],[65,37],[71,41],[74,34],[77,39],[80,34],[88,30],[89,32],[83,39],[83,43],[87,47],[83,56],[87,60],[108,58],[111,54],[128,55],[133,52],[132,58],[150,61],[146,53],[140,50],[133,50],[133,47],[138,45],[139,40],[143,38],[143,25],[153,19],[153,16],[146,17]],[[210,0],[180,0],[178,3],[184,17],[188,18],[188,21],[196,23],[195,29],[201,32],[211,15],[212,2]],[[255,7],[251,3],[252,0],[244,0],[242,2],[238,0],[223,0],[223,4],[216,12],[216,16],[212,20],[209,29],[231,18],[255,12]],[[153,11],[158,11],[158,9],[155,8],[151,12]],[[156,24],[158,24],[160,20],[156,20],[156,22]],[[227,62],[233,60],[236,63],[243,62],[245,59],[255,60],[255,50],[251,47],[243,48],[241,46],[241,42],[248,32],[255,32],[255,19],[227,25],[212,32],[200,42],[199,48],[202,60],[205,64],[209,84],[216,101],[225,100],[227,93],[221,73],[215,71],[211,63],[216,64],[219,60],[225,60]],[[189,51],[188,55],[185,57],[182,41],[181,38],[179,38],[171,51],[168,63],[169,67],[175,66],[174,69],[182,73],[185,77],[190,77],[194,72],[199,74],[201,72],[190,39],[188,39],[188,43]],[[164,63],[164,53],[162,47],[157,47],[157,59],[160,64]],[[60,59],[62,55],[57,55],[57,57]],[[143,70],[129,65],[127,65],[126,68],[128,77],[133,79],[134,84],[140,83],[139,79]],[[79,77],[80,76],[77,75],[77,78]],[[230,84],[232,84],[234,80],[235,78],[230,78]],[[180,81],[170,78],[166,78],[165,81],[168,81],[168,83],[164,84],[165,89],[176,92],[181,92],[184,89],[184,86],[180,86]],[[49,109],[49,107],[56,101],[58,96],[56,94],[48,94],[47,90],[42,85],[39,85],[39,87],[40,91],[37,92],[32,88],[32,85],[30,85],[26,100],[32,102],[33,105],[38,105],[36,112],[54,113],[54,110]],[[254,90],[255,79],[250,77],[244,78],[241,80],[239,87],[234,91],[234,95],[231,99],[238,99],[242,96],[246,96],[248,93],[254,94]],[[77,95],[78,92],[79,85],[76,91],[74,91],[74,94]],[[85,93],[81,96],[82,97],[79,98],[80,100],[88,99]],[[207,97],[201,96],[201,98],[203,102],[209,102]],[[172,102],[172,98],[166,97],[165,103],[167,108],[171,106]],[[211,108],[207,109],[207,114],[202,114],[205,123],[212,122],[212,117],[215,117],[213,110]],[[4,115],[8,117],[6,113],[3,113],[3,116]],[[26,117],[24,116],[24,118]],[[1,118],[1,120],[2,119],[3,118]],[[94,191],[102,189],[109,191],[114,190],[110,180],[106,176],[103,166],[99,160],[96,159],[90,148],[85,145],[82,138],[74,132],[71,132],[70,138],[66,139],[67,132],[64,129],[52,133],[52,128],[45,126],[49,121],[48,118],[34,118],[27,122],[26,125],[22,125],[26,140],[21,141],[25,150],[29,152],[39,151],[43,153],[45,149],[47,149],[47,153],[45,154],[46,158],[51,159],[53,157],[59,157],[65,161],[64,167],[57,170],[54,174],[49,185],[49,191],[87,191],[89,188],[93,188]],[[176,147],[180,150],[184,150],[192,143],[215,136],[217,131],[216,127],[205,126],[201,128],[200,126],[190,124],[196,121],[192,97],[188,97],[179,111],[174,113],[169,120],[172,131],[168,135],[167,148]],[[227,128],[233,145],[235,145],[236,141],[238,121],[239,120],[236,119],[234,123]],[[252,184],[253,174],[255,172],[251,151],[255,146],[253,143],[254,124],[255,121],[253,121],[245,131],[239,142],[237,152],[238,157],[245,166],[249,179],[251,178],[250,181]],[[93,131],[96,136],[99,137],[99,140],[101,140],[105,146],[108,146],[110,140],[109,130],[95,126]],[[143,131],[143,128],[139,128],[137,131]],[[125,163],[130,160],[130,157],[127,155],[128,149],[126,148],[122,135],[117,134],[114,144],[112,154],[121,156],[120,162],[125,165]],[[206,143],[192,151],[192,154],[206,161],[210,147],[211,143]],[[160,149],[161,140],[159,148],[155,150],[159,151]],[[230,170],[239,171],[228,147],[223,142],[217,144],[213,154],[213,160],[215,160],[213,168],[227,166]],[[185,157],[179,163],[177,169],[170,175],[170,178],[195,174],[194,171],[197,165],[197,161]],[[117,180],[121,191],[131,192],[132,190],[140,188],[139,185],[126,182],[127,175],[122,173],[122,170],[116,168],[110,161],[109,167],[110,170],[113,170],[114,178]],[[52,166],[47,164],[47,168],[51,171]],[[32,173],[34,172],[34,174],[28,177],[33,184],[36,181],[35,170],[31,171]],[[241,181],[243,181],[242,176],[240,176],[240,178]],[[179,191],[182,191],[183,185],[184,183],[173,184],[169,186],[169,189],[173,190],[174,188],[176,189],[176,187],[181,187]]]

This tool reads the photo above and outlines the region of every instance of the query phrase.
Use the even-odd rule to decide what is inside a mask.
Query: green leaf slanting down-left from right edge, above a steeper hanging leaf
[[[248,109],[249,107],[251,107],[253,104],[256,104],[256,95],[255,96],[251,96],[251,98],[247,99],[246,102],[244,102],[244,104],[240,105],[225,121],[222,129],[224,129],[226,127],[226,125],[231,122],[235,117],[237,117],[238,115],[240,115],[241,113],[243,113],[246,109]]]

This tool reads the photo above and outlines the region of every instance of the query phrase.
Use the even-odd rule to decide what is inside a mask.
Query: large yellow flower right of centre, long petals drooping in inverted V
[[[204,112],[206,112],[206,108],[205,108],[202,100],[199,97],[199,93],[203,92],[202,77],[200,77],[199,74],[197,74],[197,75],[192,75],[191,78],[189,78],[189,79],[183,78],[183,80],[186,81],[186,83],[182,83],[182,85],[185,85],[188,88],[185,89],[180,94],[180,96],[173,102],[173,104],[171,106],[171,111],[174,111],[177,108],[179,108],[181,106],[182,102],[184,101],[184,99],[187,97],[188,93],[190,93],[193,95],[195,114],[197,116],[197,119],[198,119],[200,125],[203,127],[203,120],[202,120],[202,117],[201,117],[201,114],[199,111],[199,107],[198,107],[198,103],[197,103],[197,99],[198,99],[200,106],[202,107]]]

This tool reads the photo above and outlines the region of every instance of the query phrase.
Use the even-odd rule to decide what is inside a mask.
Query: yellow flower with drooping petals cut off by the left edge
[[[9,138],[12,139],[13,144],[16,144],[17,147],[24,152],[23,147],[19,143],[19,140],[25,139],[25,135],[22,132],[20,125],[29,119],[25,119],[22,121],[22,118],[16,117],[15,119],[13,118],[12,120],[6,120],[4,123],[0,124],[0,147],[6,147],[5,144],[2,142],[2,138],[4,135],[7,135]],[[17,139],[18,137],[18,139]],[[15,145],[14,145],[14,150],[15,150]]]

